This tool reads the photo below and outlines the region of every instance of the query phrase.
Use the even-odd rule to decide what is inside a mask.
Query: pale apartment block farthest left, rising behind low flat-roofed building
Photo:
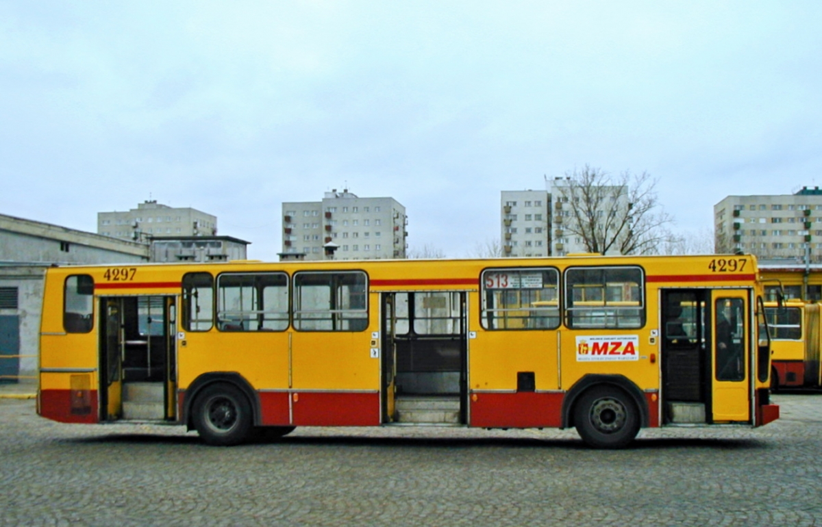
[[[217,217],[149,199],[127,212],[97,213],[97,233],[133,241],[155,236],[216,236]]]

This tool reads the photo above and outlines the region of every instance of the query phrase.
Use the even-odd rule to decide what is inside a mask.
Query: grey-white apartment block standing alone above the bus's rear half
[[[396,199],[360,198],[335,189],[321,201],[282,206],[281,259],[405,258],[408,218]]]

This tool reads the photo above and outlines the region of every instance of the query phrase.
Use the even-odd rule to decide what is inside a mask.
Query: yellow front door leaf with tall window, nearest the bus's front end
[[[711,292],[711,415],[714,423],[750,421],[750,300],[746,290]]]

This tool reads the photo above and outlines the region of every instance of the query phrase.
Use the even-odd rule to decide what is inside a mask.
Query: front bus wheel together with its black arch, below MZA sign
[[[648,425],[644,394],[623,375],[586,375],[562,401],[562,428],[577,428],[592,447],[625,447]]]

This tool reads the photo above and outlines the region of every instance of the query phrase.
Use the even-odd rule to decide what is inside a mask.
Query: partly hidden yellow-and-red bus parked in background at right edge
[[[820,304],[787,300],[765,303],[771,334],[771,388],[822,387]]]

